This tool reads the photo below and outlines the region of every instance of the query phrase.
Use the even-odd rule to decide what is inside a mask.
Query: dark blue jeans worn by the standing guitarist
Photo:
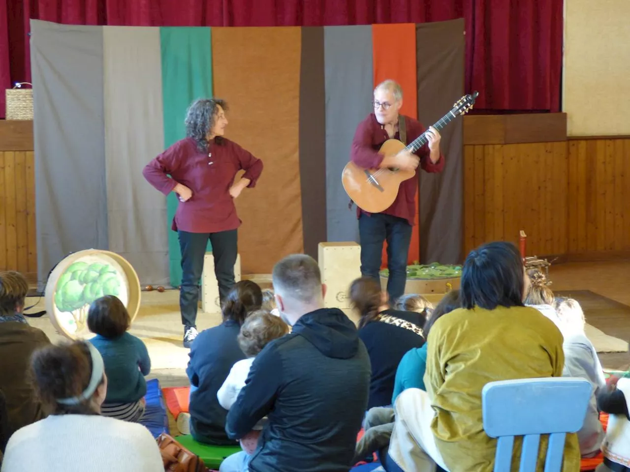
[[[387,293],[394,303],[404,294],[407,282],[407,258],[411,242],[411,225],[398,216],[373,213],[361,214],[358,219],[358,233],[361,240],[361,274],[374,277],[381,283],[383,242],[387,241]]]

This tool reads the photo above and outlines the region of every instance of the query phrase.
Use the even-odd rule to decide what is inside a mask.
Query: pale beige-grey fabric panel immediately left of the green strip
[[[110,250],[141,284],[167,285],[166,199],[142,176],[164,143],[159,28],[103,28]]]

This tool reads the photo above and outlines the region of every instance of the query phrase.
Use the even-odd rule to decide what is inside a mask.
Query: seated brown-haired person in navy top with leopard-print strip
[[[350,303],[359,315],[358,337],[370,356],[372,378],[368,408],[391,405],[396,368],[404,354],[425,344],[425,315],[389,306],[387,292],[372,277],[350,284]]]

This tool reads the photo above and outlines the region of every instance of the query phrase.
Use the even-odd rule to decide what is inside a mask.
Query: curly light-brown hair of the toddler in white
[[[247,357],[255,357],[267,344],[288,333],[289,325],[282,318],[266,310],[257,310],[241,326],[238,344]]]

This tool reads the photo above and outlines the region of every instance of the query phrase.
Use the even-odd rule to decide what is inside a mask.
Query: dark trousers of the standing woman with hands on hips
[[[181,323],[185,327],[197,327],[197,303],[199,283],[203,272],[203,256],[210,239],[214,256],[214,274],[219,283],[221,303],[234,286],[234,264],[238,255],[238,230],[218,233],[178,232],[181,249]]]

